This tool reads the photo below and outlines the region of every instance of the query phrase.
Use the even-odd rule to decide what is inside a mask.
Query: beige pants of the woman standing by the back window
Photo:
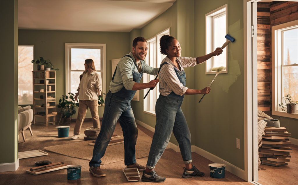
[[[93,128],[100,129],[98,117],[98,101],[97,100],[80,100],[79,110],[77,113],[77,122],[75,123],[74,134],[80,134],[83,121],[85,119],[88,107],[91,112]]]

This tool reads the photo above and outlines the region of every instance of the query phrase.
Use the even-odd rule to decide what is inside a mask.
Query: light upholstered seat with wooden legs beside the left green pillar
[[[31,106],[28,105],[26,107],[18,106],[18,134],[22,133],[24,142],[25,140],[25,132],[27,128],[29,128],[31,135],[33,136],[31,130],[31,122],[33,121],[33,110]]]

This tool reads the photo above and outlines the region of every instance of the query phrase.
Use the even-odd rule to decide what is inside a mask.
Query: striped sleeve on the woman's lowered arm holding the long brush
[[[167,86],[169,86],[169,88],[177,95],[182,96],[188,89],[183,86],[176,75],[175,69],[173,69],[170,65],[162,66],[159,76],[162,77],[162,81],[166,83]]]

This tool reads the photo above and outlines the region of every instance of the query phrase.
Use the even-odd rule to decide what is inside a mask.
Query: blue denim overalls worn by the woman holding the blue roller
[[[168,64],[164,62],[162,65]],[[170,64],[168,64],[170,65]],[[175,69],[175,68],[174,68]],[[180,82],[185,86],[186,75],[184,71],[178,71],[175,69],[176,75]],[[159,77],[160,78],[160,77]],[[167,96],[159,95],[156,101],[155,113],[156,113],[156,125],[155,132],[150,147],[148,161],[146,167],[154,169],[156,163],[162,156],[167,144],[170,141],[172,131],[179,143],[182,159],[184,163],[191,163],[191,136],[187,126],[186,119],[181,110],[181,104],[183,102],[184,95],[180,96],[171,92]]]

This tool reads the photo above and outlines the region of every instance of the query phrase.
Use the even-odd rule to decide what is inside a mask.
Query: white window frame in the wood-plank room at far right
[[[298,27],[298,20],[272,26],[272,115],[298,119],[297,113],[282,111],[278,104],[283,101],[282,66],[297,66],[298,64],[283,65],[283,31]]]

